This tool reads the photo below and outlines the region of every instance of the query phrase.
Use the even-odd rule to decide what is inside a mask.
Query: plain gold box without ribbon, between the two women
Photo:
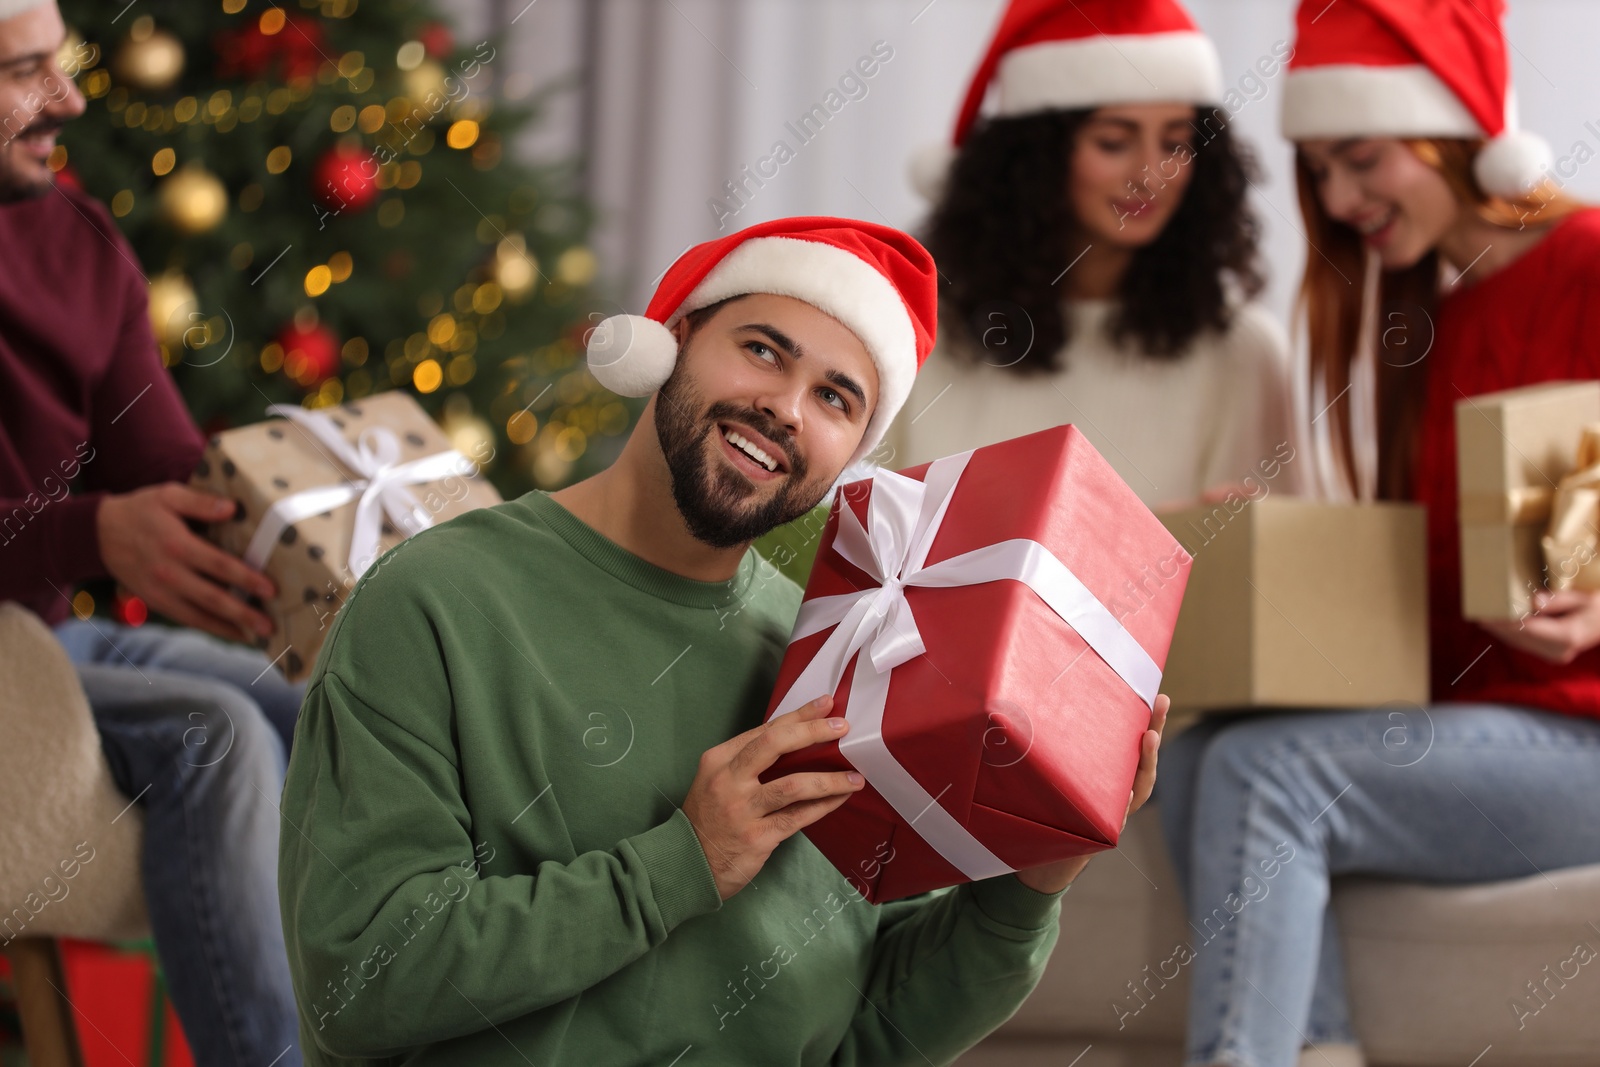
[[[1235,498],[1160,520],[1194,557],[1162,677],[1174,709],[1427,702],[1421,507]]]

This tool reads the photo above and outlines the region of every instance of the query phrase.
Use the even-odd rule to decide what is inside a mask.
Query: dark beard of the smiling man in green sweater
[[[760,411],[728,402],[701,413],[704,397],[683,374],[680,355],[672,378],[656,395],[656,437],[672,472],[672,499],[696,541],[714,549],[731,549],[755,541],[766,531],[800,518],[827,496],[829,485],[806,483],[805,458],[789,435]],[[762,504],[746,504],[757,496],[757,483],[734,470],[712,469],[706,438],[720,435],[718,421],[742,422],[784,450],[789,474],[779,490]]]

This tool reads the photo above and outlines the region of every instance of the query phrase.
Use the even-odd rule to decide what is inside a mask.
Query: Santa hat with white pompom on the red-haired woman
[[[1550,147],[1517,130],[1502,0],[1306,0],[1283,85],[1283,136],[1483,138],[1491,197],[1533,190]]]

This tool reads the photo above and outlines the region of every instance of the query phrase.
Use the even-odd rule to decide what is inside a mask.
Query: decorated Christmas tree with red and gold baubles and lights
[[[496,43],[426,0],[67,0],[88,114],[51,166],[104,200],[208,430],[410,389],[506,496],[606,466],[640,403],[600,389],[592,211],[509,146]]]

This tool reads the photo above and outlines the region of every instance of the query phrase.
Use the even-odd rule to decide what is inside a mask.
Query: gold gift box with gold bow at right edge
[[[1546,382],[1456,402],[1461,613],[1520,619],[1544,589],[1557,485],[1600,422],[1600,382]]]

